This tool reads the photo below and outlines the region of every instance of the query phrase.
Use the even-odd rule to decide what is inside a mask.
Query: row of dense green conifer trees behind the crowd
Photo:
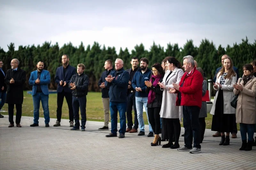
[[[256,40],[250,43],[246,37],[246,39],[242,39],[241,43],[234,43],[233,46],[228,45],[226,48],[221,45],[216,48],[213,42],[207,39],[203,39],[199,47],[193,44],[193,40],[187,40],[183,47],[180,47],[177,43],[168,43],[165,48],[153,42],[150,49],[146,50],[141,43],[136,45],[131,53],[128,48],[120,48],[117,53],[115,47],[106,48],[105,45],[102,47],[98,42],[94,42],[92,46],[88,45],[86,48],[83,42],[79,47],[74,47],[69,42],[60,48],[58,43],[52,45],[51,42],[47,41],[42,46],[19,46],[18,50],[15,50],[14,43],[10,43],[7,52],[0,47],[0,59],[4,63],[3,69],[10,69],[11,60],[17,58],[20,61],[19,67],[26,71],[27,80],[30,77],[30,73],[36,70],[36,63],[43,61],[44,69],[50,71],[51,74],[50,89],[57,88],[54,77],[57,67],[61,66],[61,56],[63,54],[69,55],[69,64],[74,67],[78,63],[84,63],[85,74],[90,78],[89,91],[99,91],[97,83],[102,71],[104,71],[104,62],[110,59],[114,63],[116,58],[123,59],[124,69],[128,69],[131,67],[130,61],[132,57],[148,58],[150,68],[154,63],[161,63],[166,56],[176,57],[183,63],[182,58],[184,56],[192,55],[198,66],[206,73],[207,78],[212,79],[216,69],[221,66],[221,56],[227,54],[232,58],[234,66],[239,69],[240,75],[243,75],[243,65],[256,58]],[[26,81],[24,89],[31,88],[28,85],[28,81]]]

